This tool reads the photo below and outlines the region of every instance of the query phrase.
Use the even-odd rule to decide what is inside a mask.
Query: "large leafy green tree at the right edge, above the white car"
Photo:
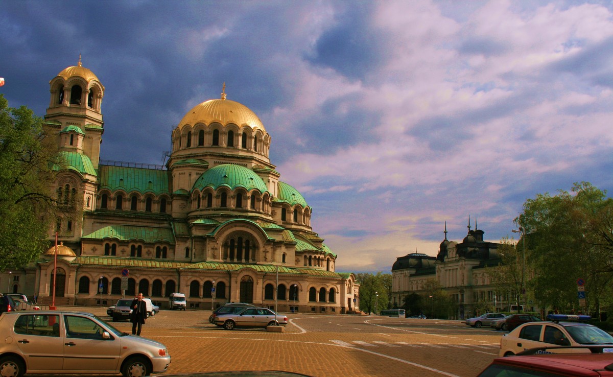
[[[571,193],[538,194],[514,221],[524,230],[535,299],[560,310],[578,309],[582,278],[586,307],[598,312],[611,302],[613,200],[588,182],[574,183]]]

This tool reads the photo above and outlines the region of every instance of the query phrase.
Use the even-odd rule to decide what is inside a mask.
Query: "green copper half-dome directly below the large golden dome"
[[[200,175],[192,189],[202,191],[210,187],[216,190],[224,186],[230,190],[242,187],[247,191],[253,189],[262,193],[268,191],[262,178],[253,170],[234,164],[223,164],[208,169],[207,172]]]

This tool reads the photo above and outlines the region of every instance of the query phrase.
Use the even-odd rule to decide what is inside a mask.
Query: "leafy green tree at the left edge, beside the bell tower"
[[[48,247],[51,221],[74,212],[51,196],[53,166],[65,166],[56,152],[41,118],[25,106],[9,107],[0,94],[0,270],[34,261]]]

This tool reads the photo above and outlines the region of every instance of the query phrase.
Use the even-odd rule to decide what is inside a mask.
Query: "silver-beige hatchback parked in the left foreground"
[[[162,343],[128,335],[91,313],[12,311],[0,316],[0,333],[18,340],[0,343],[2,376],[141,377],[164,373],[170,365]]]

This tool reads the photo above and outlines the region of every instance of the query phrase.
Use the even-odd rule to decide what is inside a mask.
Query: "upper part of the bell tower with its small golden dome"
[[[79,55],[77,66],[67,67],[50,82],[51,99],[45,115],[45,127],[56,135],[60,150],[67,147],[67,131],[75,131],[78,148],[69,148],[91,160],[94,169],[100,160],[100,143],[104,132],[102,98],[104,86],[91,70],[83,67]]]

